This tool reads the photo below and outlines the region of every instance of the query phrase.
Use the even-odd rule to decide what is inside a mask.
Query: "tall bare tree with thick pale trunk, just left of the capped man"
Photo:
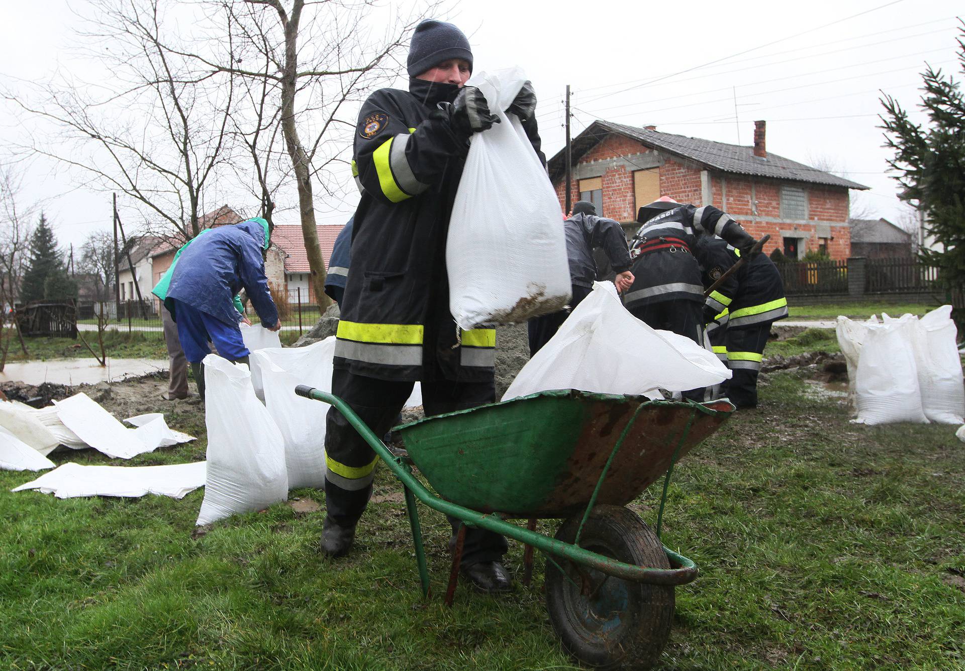
[[[335,195],[335,169],[346,170],[346,150],[355,127],[357,103],[372,88],[394,79],[395,56],[415,26],[438,5],[395,16],[375,35],[374,0],[219,0],[229,17],[232,49],[218,62],[206,61],[214,72],[256,79],[262,92],[277,100],[276,113],[298,194],[302,236],[319,308],[325,295],[325,259],[318,246],[314,183]],[[244,67],[249,61],[257,65]],[[263,99],[263,98],[262,98]],[[260,123],[263,124],[264,117]],[[257,154],[258,152],[253,152]],[[270,194],[264,188],[262,194]],[[262,203],[270,202],[262,199]]]

